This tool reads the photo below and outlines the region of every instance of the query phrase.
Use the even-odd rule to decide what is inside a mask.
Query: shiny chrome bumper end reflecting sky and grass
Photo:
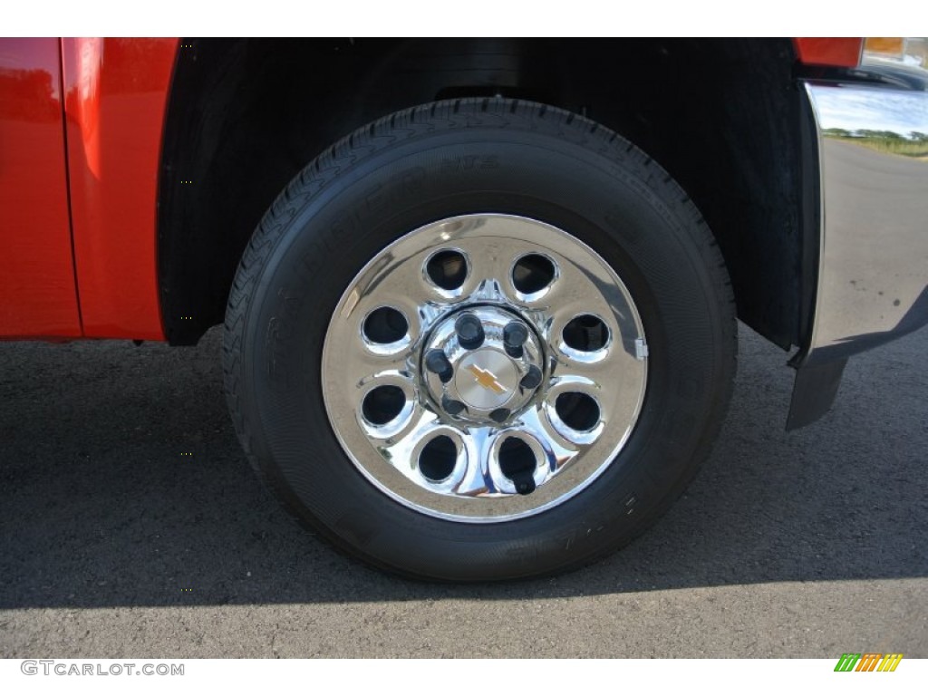
[[[928,323],[928,156],[914,135],[928,148],[928,92],[805,88],[818,127],[821,238],[800,368],[843,365]]]

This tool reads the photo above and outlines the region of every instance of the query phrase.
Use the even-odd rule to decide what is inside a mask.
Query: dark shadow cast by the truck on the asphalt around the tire
[[[0,608],[520,599],[928,576],[928,332],[852,360],[831,413],[786,433],[786,355],[741,327],[728,421],[687,496],[605,561],[498,586],[380,574],[292,522],[241,455],[219,339],[213,329],[193,349],[0,344]]]

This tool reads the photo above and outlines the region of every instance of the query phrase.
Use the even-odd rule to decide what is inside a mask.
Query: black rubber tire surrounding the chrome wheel
[[[333,310],[369,259],[424,224],[487,212],[544,221],[597,251],[638,305],[650,355],[634,430],[593,483],[528,517],[470,523],[368,482],[329,423],[319,366]],[[300,520],[383,569],[486,581],[580,566],[654,522],[719,432],[736,348],[715,240],[656,162],[572,113],[468,99],[371,123],[281,193],[238,268],[224,372],[248,458]]]

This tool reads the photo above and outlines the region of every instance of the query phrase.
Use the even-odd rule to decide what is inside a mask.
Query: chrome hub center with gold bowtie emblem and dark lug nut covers
[[[507,424],[543,386],[541,345],[530,322],[508,308],[467,307],[438,322],[423,345],[423,387],[448,419]]]

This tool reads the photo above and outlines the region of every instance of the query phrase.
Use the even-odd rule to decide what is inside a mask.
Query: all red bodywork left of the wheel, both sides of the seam
[[[177,44],[0,42],[0,338],[163,340],[156,210]]]

